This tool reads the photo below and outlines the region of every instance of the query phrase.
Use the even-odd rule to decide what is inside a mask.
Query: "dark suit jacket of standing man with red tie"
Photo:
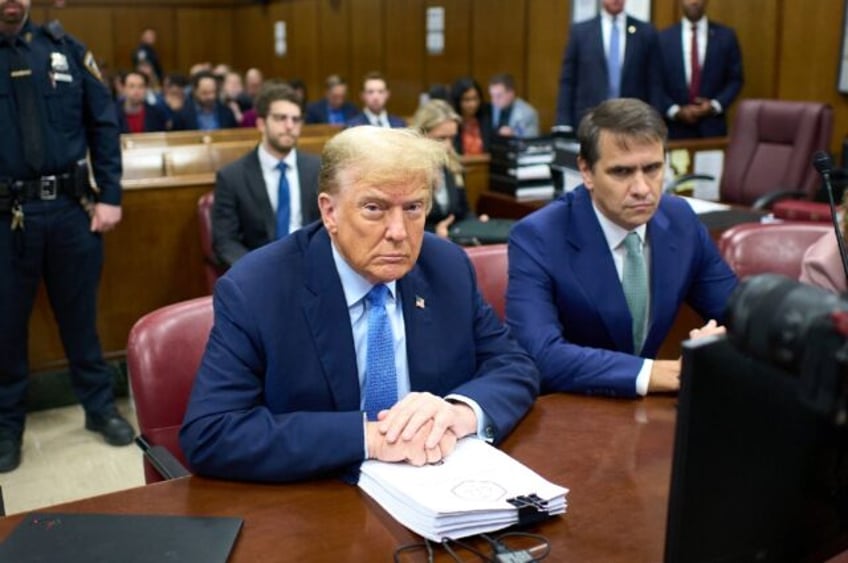
[[[742,53],[736,33],[729,27],[709,22],[707,52],[701,67],[701,92],[703,98],[718,100],[723,112],[708,116],[694,125],[668,121],[668,136],[672,139],[692,137],[723,137],[727,135],[727,110],[739,95],[744,82]],[[659,34],[663,59],[663,107],[666,116],[674,104],[689,103],[689,85],[683,61],[682,23],[664,29]]]

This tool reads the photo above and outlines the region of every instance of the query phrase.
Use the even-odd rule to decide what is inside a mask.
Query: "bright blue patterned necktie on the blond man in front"
[[[365,359],[365,412],[368,420],[397,402],[395,342],[386,314],[389,288],[378,284],[365,296],[368,305],[368,347]]]

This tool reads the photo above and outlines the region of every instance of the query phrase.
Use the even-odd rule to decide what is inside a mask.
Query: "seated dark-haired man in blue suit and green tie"
[[[736,277],[686,201],[662,194],[666,126],[653,108],[608,100],[577,136],[583,184],[510,234],[507,322],[543,391],[675,391],[680,362],[652,358],[680,305],[711,319],[691,337],[722,332]]]

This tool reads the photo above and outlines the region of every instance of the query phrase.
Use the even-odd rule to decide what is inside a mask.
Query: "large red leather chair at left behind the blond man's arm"
[[[139,432],[186,464],[178,433],[212,328],[212,297],[157,309],[139,319],[127,342],[127,369]],[[148,483],[163,478],[145,459]]]

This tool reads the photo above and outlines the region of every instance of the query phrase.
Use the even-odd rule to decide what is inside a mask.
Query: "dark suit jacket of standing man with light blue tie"
[[[649,23],[630,16],[621,68],[621,97],[639,98],[659,111],[662,103],[661,63],[657,32]],[[557,96],[557,125],[575,129],[583,115],[607,99],[609,80],[601,16],[575,24],[562,60]]]

